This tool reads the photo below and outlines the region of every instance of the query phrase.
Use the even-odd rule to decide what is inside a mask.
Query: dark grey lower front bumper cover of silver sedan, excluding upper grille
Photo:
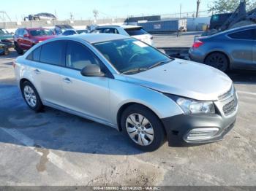
[[[186,147],[220,141],[234,127],[236,114],[223,119],[219,114],[206,116],[179,114],[162,119],[167,132],[167,141],[171,147]],[[188,141],[187,136],[193,129],[218,128],[218,132],[211,139]]]

